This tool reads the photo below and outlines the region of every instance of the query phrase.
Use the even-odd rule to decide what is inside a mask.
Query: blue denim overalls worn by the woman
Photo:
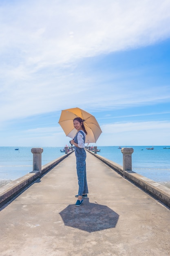
[[[83,140],[85,142],[84,132],[79,131],[83,135]],[[77,132],[78,134],[78,132]],[[74,142],[78,144],[77,134],[74,137]],[[79,184],[78,195],[87,194],[88,186],[86,180],[86,151],[84,148],[77,148],[75,146],[75,157],[76,157],[76,169],[77,169],[77,177]]]

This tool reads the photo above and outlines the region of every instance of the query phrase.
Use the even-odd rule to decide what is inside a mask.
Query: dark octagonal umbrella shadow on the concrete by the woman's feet
[[[114,228],[119,219],[119,215],[102,204],[90,203],[88,198],[80,207],[69,204],[60,212],[64,225],[81,229],[89,233]]]

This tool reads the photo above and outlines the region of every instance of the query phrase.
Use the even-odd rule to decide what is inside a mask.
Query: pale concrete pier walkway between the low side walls
[[[88,152],[86,165],[81,207],[73,153],[1,209],[0,256],[170,255],[170,210]]]

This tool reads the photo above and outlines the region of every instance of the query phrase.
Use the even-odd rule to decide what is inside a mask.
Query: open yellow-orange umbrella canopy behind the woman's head
[[[95,117],[80,108],[62,110],[58,123],[64,130],[66,136],[73,139],[77,133],[77,130],[73,126],[73,119],[75,119],[75,117],[81,117],[84,120],[84,127],[87,131],[85,143],[95,143],[102,133],[102,130]]]

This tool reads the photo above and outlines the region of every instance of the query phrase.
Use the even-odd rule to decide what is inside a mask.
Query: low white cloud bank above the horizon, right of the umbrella
[[[102,146],[167,145],[170,141],[169,121],[106,124],[101,129],[97,145]]]

